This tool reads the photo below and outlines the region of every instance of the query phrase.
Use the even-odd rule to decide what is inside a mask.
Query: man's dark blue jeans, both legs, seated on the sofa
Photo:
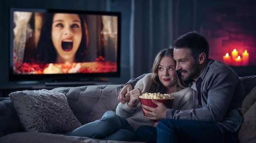
[[[146,143],[236,143],[237,134],[222,133],[216,124],[195,120],[163,119],[157,128],[141,126],[134,141]]]

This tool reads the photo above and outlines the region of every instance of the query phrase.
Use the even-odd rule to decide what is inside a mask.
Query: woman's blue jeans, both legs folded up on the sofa
[[[107,111],[101,119],[84,124],[65,135],[115,141],[132,141],[134,132],[134,129],[126,119],[118,116],[113,111]]]

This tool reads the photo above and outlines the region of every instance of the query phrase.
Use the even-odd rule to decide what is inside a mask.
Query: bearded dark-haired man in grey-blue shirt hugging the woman
[[[236,72],[229,66],[209,59],[209,43],[198,32],[188,32],[175,40],[173,48],[176,71],[196,91],[193,109],[167,109],[157,128],[141,126],[136,141],[159,143],[236,143],[243,117],[239,111],[245,90]],[[130,80],[120,92],[119,101],[129,100],[129,92],[137,79]],[[158,107],[162,104],[153,100]],[[142,105],[148,119],[159,119],[161,108]],[[146,110],[147,109],[147,110]]]

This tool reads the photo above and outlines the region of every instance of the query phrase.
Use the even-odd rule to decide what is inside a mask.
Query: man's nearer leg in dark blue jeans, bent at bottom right
[[[203,121],[163,119],[157,125],[157,143],[223,143],[216,124]]]

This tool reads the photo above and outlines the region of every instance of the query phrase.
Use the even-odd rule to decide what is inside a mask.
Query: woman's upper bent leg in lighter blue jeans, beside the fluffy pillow
[[[101,119],[84,124],[76,128],[72,132],[68,132],[67,136],[90,137],[99,139],[111,134],[121,127],[119,117],[113,111],[107,111]]]

